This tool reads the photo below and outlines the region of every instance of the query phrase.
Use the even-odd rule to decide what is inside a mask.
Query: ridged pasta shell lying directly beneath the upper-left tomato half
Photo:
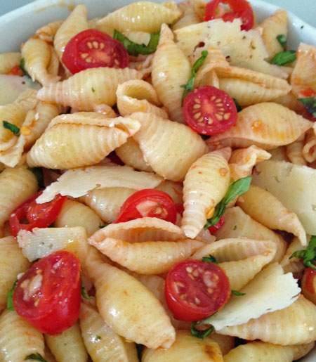
[[[63,82],[40,89],[41,101],[70,105],[77,110],[91,111],[96,105],[114,105],[117,86],[130,79],[140,79],[140,72],[129,68],[98,67],[82,70]]]

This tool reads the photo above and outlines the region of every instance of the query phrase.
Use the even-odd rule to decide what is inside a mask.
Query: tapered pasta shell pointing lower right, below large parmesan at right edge
[[[237,205],[264,226],[293,233],[301,241],[301,245],[306,245],[306,233],[298,216],[289,211],[272,193],[250,186],[237,200]]]

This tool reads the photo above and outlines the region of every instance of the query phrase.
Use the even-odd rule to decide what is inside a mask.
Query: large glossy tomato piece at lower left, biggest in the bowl
[[[61,333],[77,321],[80,302],[79,260],[65,250],[35,262],[13,292],[16,313],[49,335]]]

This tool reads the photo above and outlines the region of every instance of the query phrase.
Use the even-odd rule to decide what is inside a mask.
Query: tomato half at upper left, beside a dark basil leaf
[[[129,53],[110,35],[88,29],[68,41],[62,63],[72,74],[96,67],[125,68],[129,65]]]

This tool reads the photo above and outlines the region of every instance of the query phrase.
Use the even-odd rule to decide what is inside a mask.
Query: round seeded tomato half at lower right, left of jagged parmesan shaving
[[[164,295],[174,318],[199,321],[223,308],[230,297],[230,281],[209,261],[180,261],[166,277]]]

